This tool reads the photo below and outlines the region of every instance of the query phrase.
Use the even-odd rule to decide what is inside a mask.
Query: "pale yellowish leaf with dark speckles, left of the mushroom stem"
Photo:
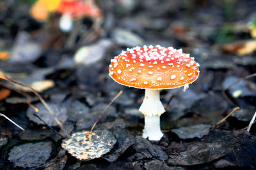
[[[113,134],[107,130],[93,131],[91,143],[89,134],[90,131],[75,132],[61,146],[79,160],[91,160],[108,153],[116,143]]]

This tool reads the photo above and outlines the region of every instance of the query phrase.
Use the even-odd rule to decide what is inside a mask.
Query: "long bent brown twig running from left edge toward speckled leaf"
[[[3,74],[0,73],[0,78],[4,79],[4,80],[7,80],[7,81],[10,81],[12,83],[16,83],[18,85],[21,85],[21,86],[24,86],[24,87],[28,87],[28,89],[31,90],[31,92],[33,92],[37,97],[38,99],[42,102],[42,104],[44,104],[45,108],[49,111],[49,113],[51,114],[51,117],[55,120],[55,122],[60,126],[60,128],[63,130],[65,136],[67,136],[67,133],[63,127],[63,124],[60,122],[60,120],[58,120],[58,118],[56,117],[56,115],[54,115],[54,113],[52,112],[51,108],[49,108],[48,104],[44,101],[44,99],[40,96],[40,94],[38,94],[38,92],[36,92],[35,89],[33,89],[32,87],[30,87],[29,85],[26,85],[24,83],[20,83],[19,81],[15,81],[15,80],[12,80],[10,78],[7,78],[6,76],[4,76]]]

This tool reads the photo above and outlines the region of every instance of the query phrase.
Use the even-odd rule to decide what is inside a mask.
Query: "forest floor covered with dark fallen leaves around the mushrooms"
[[[0,2],[0,73],[36,89],[63,127],[28,88],[1,80],[0,113],[25,131],[0,117],[0,169],[256,168],[256,126],[246,131],[256,77],[244,78],[256,73],[255,1],[100,0],[100,18],[76,20],[71,32],[58,13],[37,22],[29,2]],[[186,92],[161,90],[158,142],[141,137],[145,91],[108,75],[113,57],[143,45],[182,48],[200,64]],[[95,122],[86,152],[78,139],[88,142]]]

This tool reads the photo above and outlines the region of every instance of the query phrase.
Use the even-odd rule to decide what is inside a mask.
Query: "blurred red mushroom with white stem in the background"
[[[97,6],[79,0],[62,0],[57,11],[62,14],[60,18],[60,29],[65,32],[72,29],[72,20],[74,19],[84,16],[99,18],[101,15]]]

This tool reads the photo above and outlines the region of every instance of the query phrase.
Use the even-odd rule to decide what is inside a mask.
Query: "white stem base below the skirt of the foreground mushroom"
[[[145,117],[145,126],[143,138],[148,138],[150,141],[159,141],[163,137],[160,129],[160,117]]]

